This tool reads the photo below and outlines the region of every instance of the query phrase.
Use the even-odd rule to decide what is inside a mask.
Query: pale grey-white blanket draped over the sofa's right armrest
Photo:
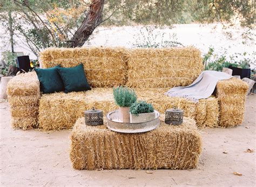
[[[206,70],[192,84],[187,87],[172,88],[165,95],[170,97],[185,97],[197,103],[199,99],[205,99],[212,95],[218,81],[227,80],[231,77],[231,75],[223,72]]]

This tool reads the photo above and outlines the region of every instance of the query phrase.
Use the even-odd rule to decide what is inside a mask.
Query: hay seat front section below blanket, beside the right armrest
[[[196,121],[200,128],[219,126],[218,99],[211,96],[207,99],[199,99],[196,104]]]

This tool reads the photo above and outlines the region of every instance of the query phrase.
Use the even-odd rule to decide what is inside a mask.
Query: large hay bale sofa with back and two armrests
[[[237,78],[219,81],[215,95],[198,103],[164,95],[172,87],[191,84],[203,71],[200,51],[193,47],[48,48],[40,59],[44,68],[83,63],[92,90],[42,95],[35,72],[17,75],[8,84],[13,128],[71,128],[93,106],[106,114],[117,109],[112,96],[112,87],[117,85],[133,88],[139,99],[152,103],[160,113],[177,106],[203,128],[233,127],[244,117],[248,86]]]

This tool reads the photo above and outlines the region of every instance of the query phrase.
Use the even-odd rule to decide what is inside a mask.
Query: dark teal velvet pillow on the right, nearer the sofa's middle
[[[91,87],[85,77],[84,66],[82,63],[72,68],[57,67],[57,70],[59,72],[59,75],[62,77],[62,81],[65,87],[65,93],[71,91],[91,90]]]

